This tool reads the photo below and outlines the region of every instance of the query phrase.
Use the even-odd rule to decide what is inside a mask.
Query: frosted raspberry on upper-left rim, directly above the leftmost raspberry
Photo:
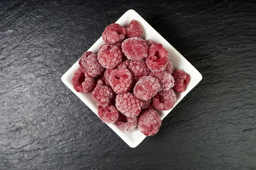
[[[85,73],[92,77],[99,76],[104,70],[97,59],[96,53],[91,51],[87,51],[82,55],[81,59],[79,60],[79,65]]]

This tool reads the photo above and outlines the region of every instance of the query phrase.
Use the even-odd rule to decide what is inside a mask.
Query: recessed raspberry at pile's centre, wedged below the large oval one
[[[131,72],[134,85],[139,81],[141,77],[147,76],[150,72],[144,59],[132,60],[128,68]]]

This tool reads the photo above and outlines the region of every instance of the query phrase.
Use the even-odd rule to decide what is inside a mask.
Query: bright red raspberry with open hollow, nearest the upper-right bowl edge
[[[162,44],[153,44],[148,51],[146,63],[151,71],[164,71],[169,60],[168,51]]]

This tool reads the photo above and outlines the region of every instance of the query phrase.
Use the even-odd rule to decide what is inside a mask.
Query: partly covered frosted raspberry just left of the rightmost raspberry
[[[172,74],[167,73],[166,71],[162,72],[151,72],[149,76],[152,76],[158,79],[161,88],[159,91],[167,91],[174,86],[174,79]]]

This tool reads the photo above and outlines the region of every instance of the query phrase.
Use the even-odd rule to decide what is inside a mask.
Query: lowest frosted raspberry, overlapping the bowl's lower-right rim
[[[138,129],[145,136],[151,136],[158,132],[161,124],[162,121],[160,116],[157,114],[157,111],[151,108],[147,108],[144,109],[140,115],[138,121]]]

